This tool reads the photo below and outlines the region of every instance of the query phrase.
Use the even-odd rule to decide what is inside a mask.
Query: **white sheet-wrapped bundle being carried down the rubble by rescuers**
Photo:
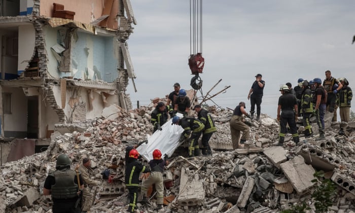
[[[168,120],[161,128],[157,130],[148,139],[148,144],[142,144],[137,147],[139,155],[147,161],[153,160],[153,151],[159,149],[162,156],[167,154],[169,157],[174,153],[175,149],[179,147],[179,139],[184,129],[180,125],[171,125],[171,120]]]

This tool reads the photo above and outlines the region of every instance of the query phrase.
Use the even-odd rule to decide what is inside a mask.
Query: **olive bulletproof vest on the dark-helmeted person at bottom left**
[[[52,198],[69,199],[78,196],[78,185],[74,183],[77,173],[74,170],[55,170],[49,175],[55,179],[55,184],[51,187]]]

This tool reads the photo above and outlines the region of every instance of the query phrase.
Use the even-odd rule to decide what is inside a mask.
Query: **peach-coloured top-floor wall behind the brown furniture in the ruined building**
[[[74,20],[83,23],[90,23],[91,21],[101,17],[103,9],[102,0],[46,0],[41,1],[40,14],[41,16],[53,16],[53,3],[64,5],[64,10],[74,11]]]

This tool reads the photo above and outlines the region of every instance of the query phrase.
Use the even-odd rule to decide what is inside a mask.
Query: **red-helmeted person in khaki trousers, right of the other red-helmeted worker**
[[[157,208],[154,210],[161,209],[163,207],[164,201],[164,183],[163,183],[163,169],[164,166],[168,164],[168,161],[164,158],[161,158],[160,150],[156,149],[153,151],[153,160],[149,161],[149,165],[151,167],[151,173],[143,182],[141,186],[141,194],[143,195],[143,202],[147,202],[147,192],[148,188],[155,184],[155,189],[157,191]]]

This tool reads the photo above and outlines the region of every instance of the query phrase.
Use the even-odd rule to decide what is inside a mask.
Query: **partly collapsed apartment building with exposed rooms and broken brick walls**
[[[132,108],[135,23],[129,0],[0,0],[2,163],[49,145],[55,124]]]

